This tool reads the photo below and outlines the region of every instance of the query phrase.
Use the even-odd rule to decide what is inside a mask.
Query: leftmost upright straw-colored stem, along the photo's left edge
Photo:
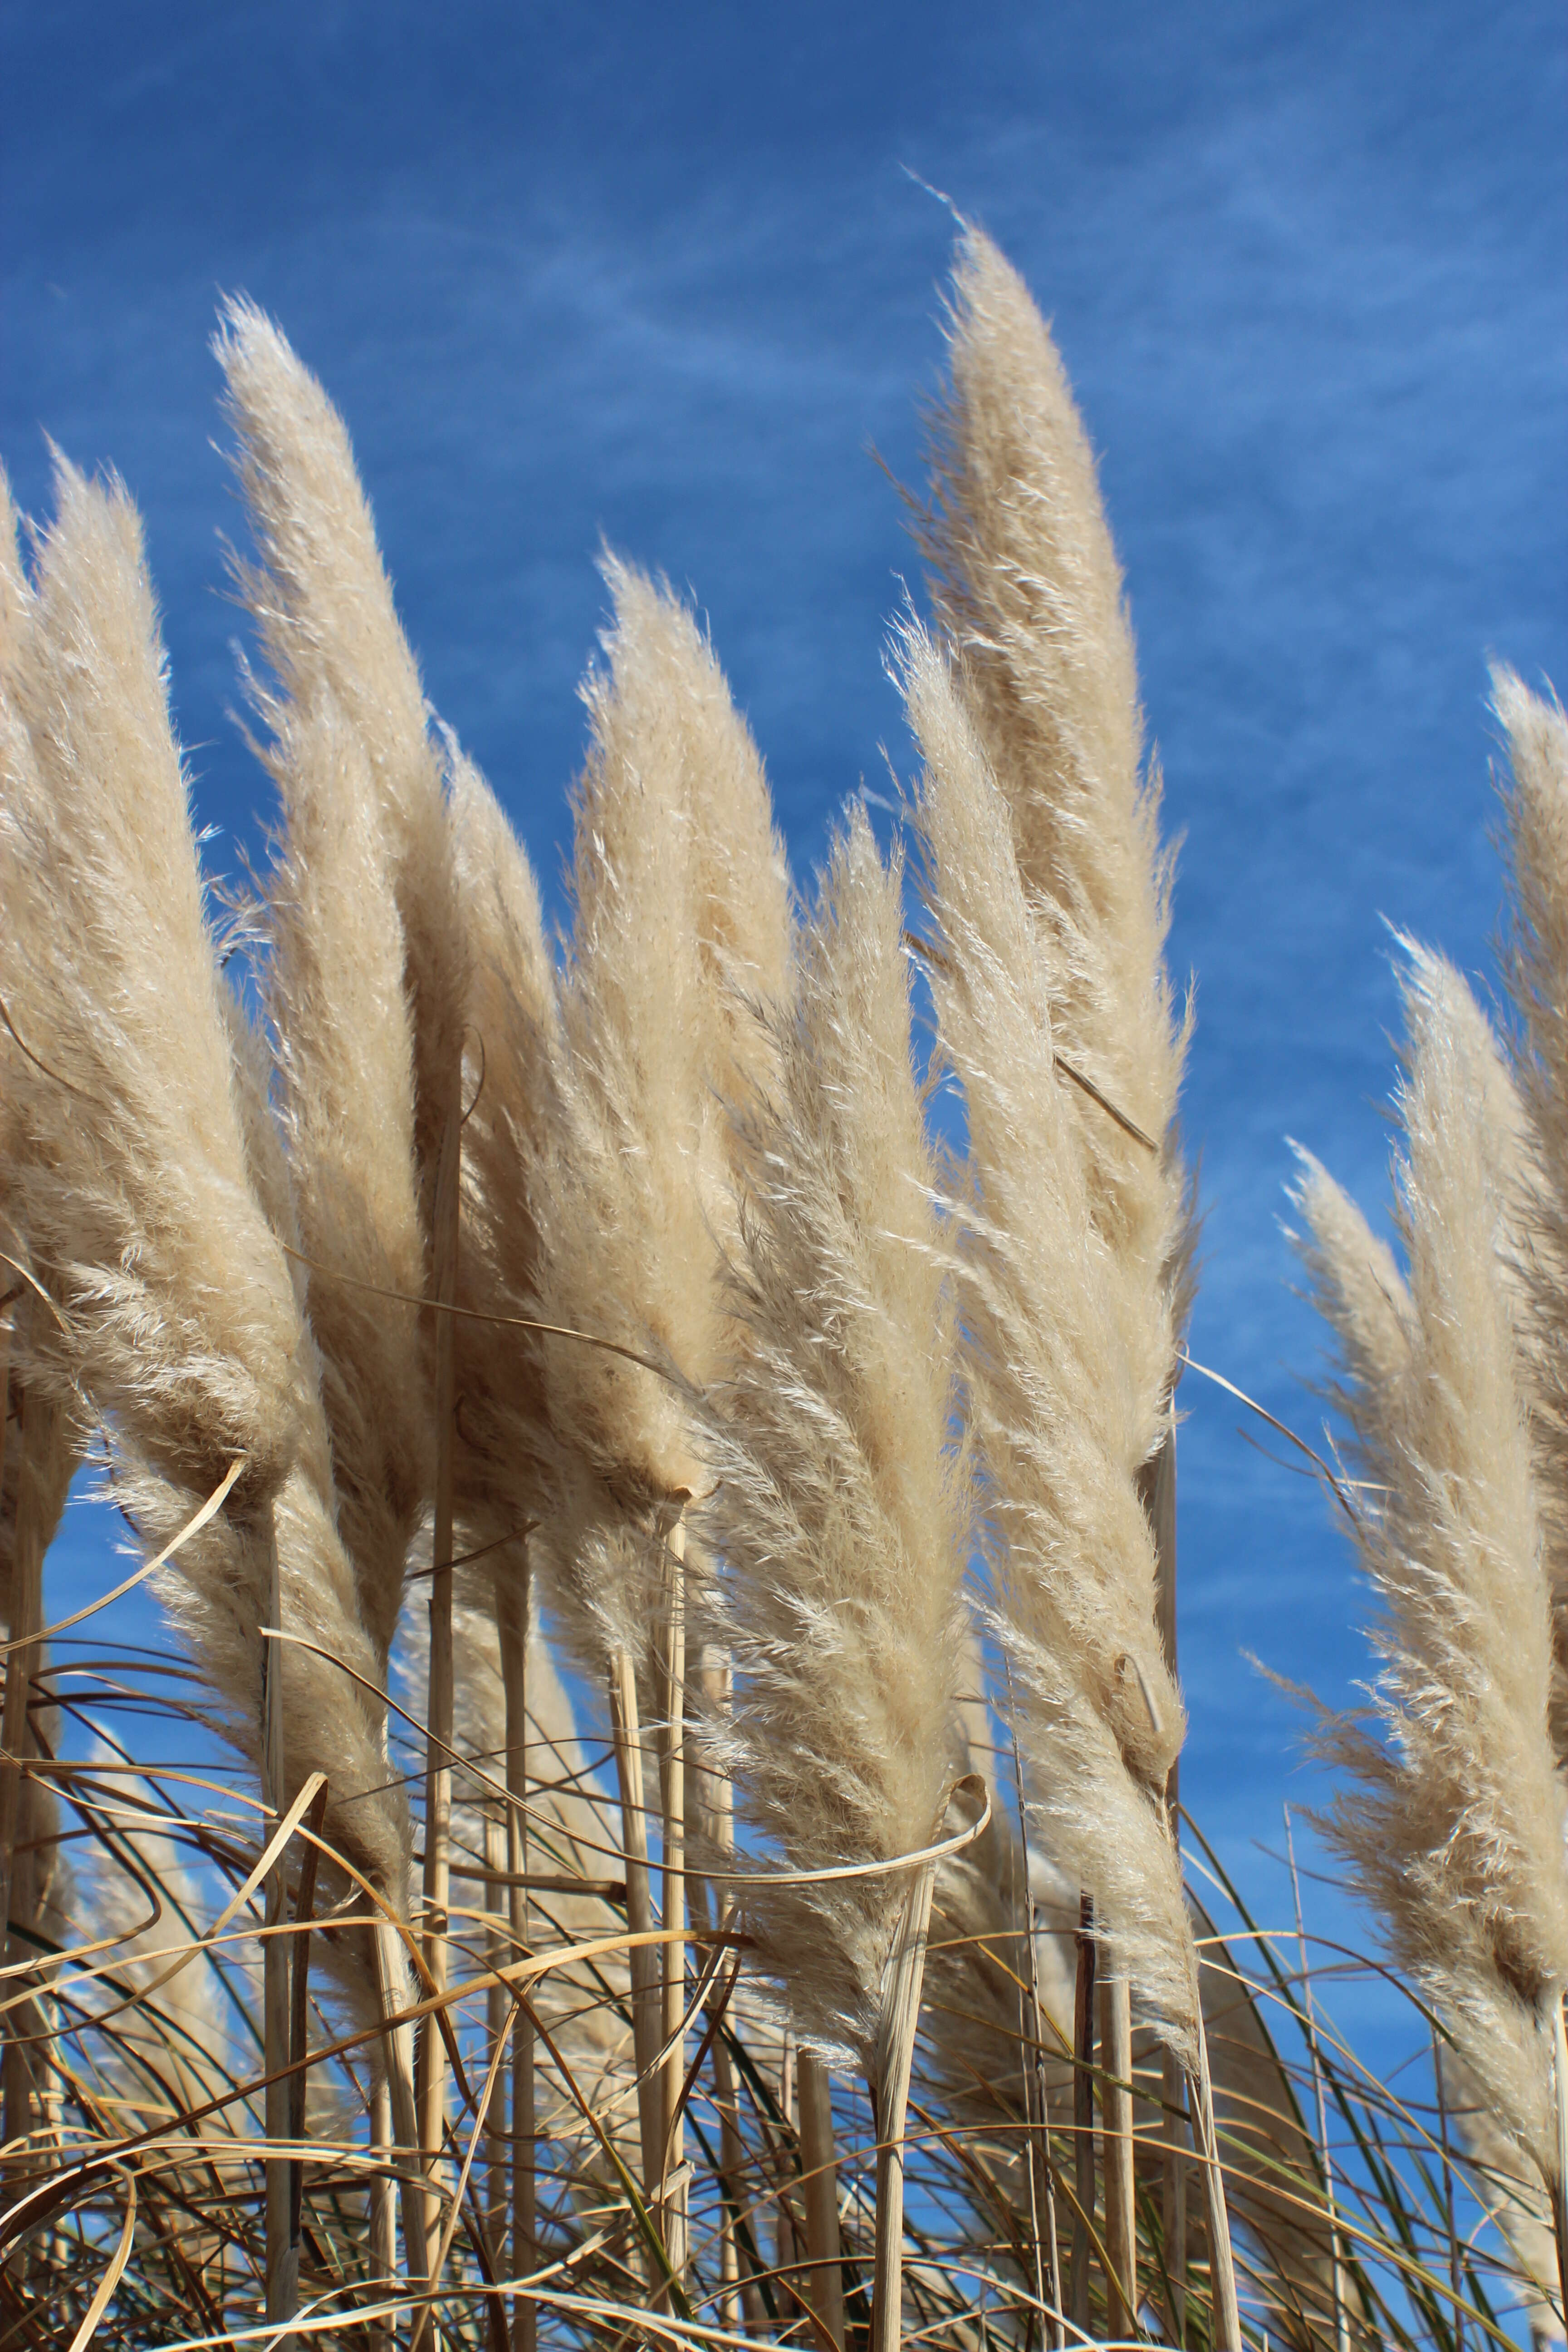
[[[33,1792],[28,1757],[35,1755],[35,1740],[28,1705],[33,1698],[33,1675],[40,1665],[38,1632],[42,1630],[47,1543],[47,1503],[40,1484],[40,1465],[54,1451],[54,1425],[59,1421],[59,1409],[45,1404],[40,1397],[24,1397],[21,1411],[26,1428],[21,1432],[16,1517],[12,1524],[12,1621],[7,1639],[21,1642],[24,1649],[12,1649],[5,1663],[5,1715],[0,1719],[0,1924],[5,1926],[0,1957],[5,1959],[26,1957],[24,1952],[12,1955],[9,1926],[12,1922],[31,1924],[35,1912],[38,1853],[28,1837],[28,1813],[33,1811],[28,1802]],[[5,2065],[0,2070],[5,2079],[5,2143],[21,2147],[33,2131],[35,2056],[28,2042],[42,2020],[35,2004],[24,2002],[9,2011],[5,2023],[9,2027],[5,2037]],[[2,2201],[9,2204],[26,2194],[26,2187],[28,2166],[7,2171]]]

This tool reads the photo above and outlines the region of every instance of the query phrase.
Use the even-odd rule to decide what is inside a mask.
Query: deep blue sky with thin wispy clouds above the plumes
[[[45,430],[139,499],[214,868],[263,807],[207,353],[244,289],[545,880],[599,534],[696,590],[804,875],[907,769],[870,452],[919,477],[950,221],[910,174],[947,191],[1056,322],[1185,833],[1192,1348],[1312,1430],[1284,1138],[1385,1192],[1380,917],[1490,969],[1486,656],[1568,687],[1566,75],[1537,0],[5,5],[0,454],[33,510]],[[1312,1484],[1182,1404],[1185,1795],[1253,1870],[1305,1783],[1244,1653],[1345,1696],[1361,1602]]]

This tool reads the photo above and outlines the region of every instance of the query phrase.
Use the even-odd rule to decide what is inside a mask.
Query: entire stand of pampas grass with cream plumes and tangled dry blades
[[[24,562],[0,485],[0,2340],[266,2307],[374,2352],[1027,2352],[1070,2326],[1072,2173],[1088,2336],[1460,2352],[1493,2274],[1544,2328],[1561,713],[1497,680],[1512,1068],[1413,960],[1408,1272],[1302,1162],[1387,1609],[1335,1835],[1450,2037],[1427,2117],[1173,1846],[1187,1025],[1117,557],[1020,280],[964,230],[898,654],[922,938],[858,804],[797,910],[696,614],[607,557],[550,941],[341,419],[249,303],[219,355],[277,793],[221,943],[134,510],[61,461]],[[47,1623],[80,1458],[183,1658]]]

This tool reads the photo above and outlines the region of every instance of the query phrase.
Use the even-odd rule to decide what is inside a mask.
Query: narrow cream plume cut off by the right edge
[[[1493,670],[1493,694],[1512,767],[1509,993],[1523,1023],[1514,1068],[1535,1138],[1521,1204],[1523,1338],[1552,1581],[1552,1722],[1568,1764],[1568,720],[1512,670]]]

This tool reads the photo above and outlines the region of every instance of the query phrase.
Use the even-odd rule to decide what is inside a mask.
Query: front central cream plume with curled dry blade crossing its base
[[[969,1482],[900,891],[856,809],[773,1016],[776,1098],[743,1120],[745,1338],[705,1416],[698,1531],[736,1672],[719,1752],[738,1837],[792,1870],[926,1846],[952,1783]],[[806,2039],[867,2060],[903,1898],[900,1877],[748,1893]]]

